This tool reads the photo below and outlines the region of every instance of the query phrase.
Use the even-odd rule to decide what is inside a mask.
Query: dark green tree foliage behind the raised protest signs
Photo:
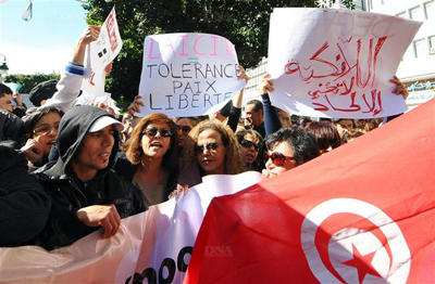
[[[123,49],[107,90],[133,101],[138,93],[144,39],[169,33],[208,33],[227,38],[245,68],[268,55],[269,20],[274,8],[319,7],[316,0],[89,0],[89,24],[101,24],[115,5]]]

